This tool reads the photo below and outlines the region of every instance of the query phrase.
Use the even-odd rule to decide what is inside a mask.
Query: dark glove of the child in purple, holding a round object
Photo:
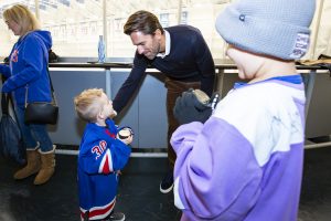
[[[204,92],[190,88],[177,98],[173,115],[180,125],[191,122],[205,123],[212,115],[218,97],[218,93],[210,98]]]

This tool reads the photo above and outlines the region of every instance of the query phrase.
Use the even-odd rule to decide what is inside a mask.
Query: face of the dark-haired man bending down
[[[130,34],[132,44],[137,46],[139,54],[143,54],[147,59],[153,60],[160,52],[161,32],[156,31],[154,34],[143,34],[140,31]]]

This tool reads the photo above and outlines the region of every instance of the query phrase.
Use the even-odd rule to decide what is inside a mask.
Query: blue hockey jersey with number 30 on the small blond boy
[[[127,164],[131,149],[116,139],[117,127],[88,123],[79,147],[78,191],[81,217],[89,212],[89,220],[104,219],[114,209],[118,175]]]

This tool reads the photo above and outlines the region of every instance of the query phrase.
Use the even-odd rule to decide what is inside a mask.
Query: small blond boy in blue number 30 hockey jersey
[[[113,103],[103,90],[86,90],[74,103],[78,116],[87,122],[78,155],[81,218],[124,221],[125,214],[114,212],[114,207],[118,176],[131,152],[132,133],[119,138],[119,129],[109,118],[114,116]]]

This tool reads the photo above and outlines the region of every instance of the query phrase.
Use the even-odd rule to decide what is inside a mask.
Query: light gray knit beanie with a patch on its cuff
[[[244,51],[282,60],[302,57],[316,0],[238,0],[216,20],[216,30]]]

